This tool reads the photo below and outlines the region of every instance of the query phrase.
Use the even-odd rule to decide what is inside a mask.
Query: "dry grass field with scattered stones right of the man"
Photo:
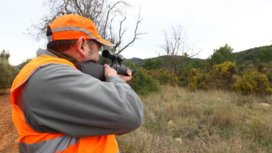
[[[163,86],[140,96],[143,125],[117,136],[121,152],[272,152],[269,97]]]

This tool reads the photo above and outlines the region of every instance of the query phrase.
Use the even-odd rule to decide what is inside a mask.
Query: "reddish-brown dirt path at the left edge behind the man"
[[[0,152],[19,152],[17,129],[12,122],[11,104],[9,102],[10,90],[0,95]]]

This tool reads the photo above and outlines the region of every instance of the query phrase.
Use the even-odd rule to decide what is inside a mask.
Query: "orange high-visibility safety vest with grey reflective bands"
[[[52,63],[75,66],[62,58],[49,55],[36,57],[30,61],[16,76],[11,86],[10,101],[12,104],[12,119],[19,134],[20,152],[62,152],[62,153],[117,153],[119,148],[115,135],[76,138],[63,133],[40,133],[32,129],[25,121],[23,111],[16,104],[24,83],[41,67]]]

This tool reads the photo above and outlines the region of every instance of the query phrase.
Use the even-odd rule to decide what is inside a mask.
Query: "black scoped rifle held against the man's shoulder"
[[[121,75],[126,75],[126,70],[129,69],[132,74],[134,72],[139,72],[138,70],[131,69],[129,66],[124,66],[122,62],[124,61],[124,58],[121,57],[117,53],[113,53],[109,51],[108,49],[105,49],[102,51],[102,56],[105,58],[109,58],[112,60],[108,65],[117,71],[117,74]],[[74,64],[75,67],[80,70],[81,72],[85,74],[89,74],[93,76],[96,79],[99,79],[100,81],[105,81],[105,76],[104,76],[104,66],[92,61],[87,61],[87,62],[77,62]]]

